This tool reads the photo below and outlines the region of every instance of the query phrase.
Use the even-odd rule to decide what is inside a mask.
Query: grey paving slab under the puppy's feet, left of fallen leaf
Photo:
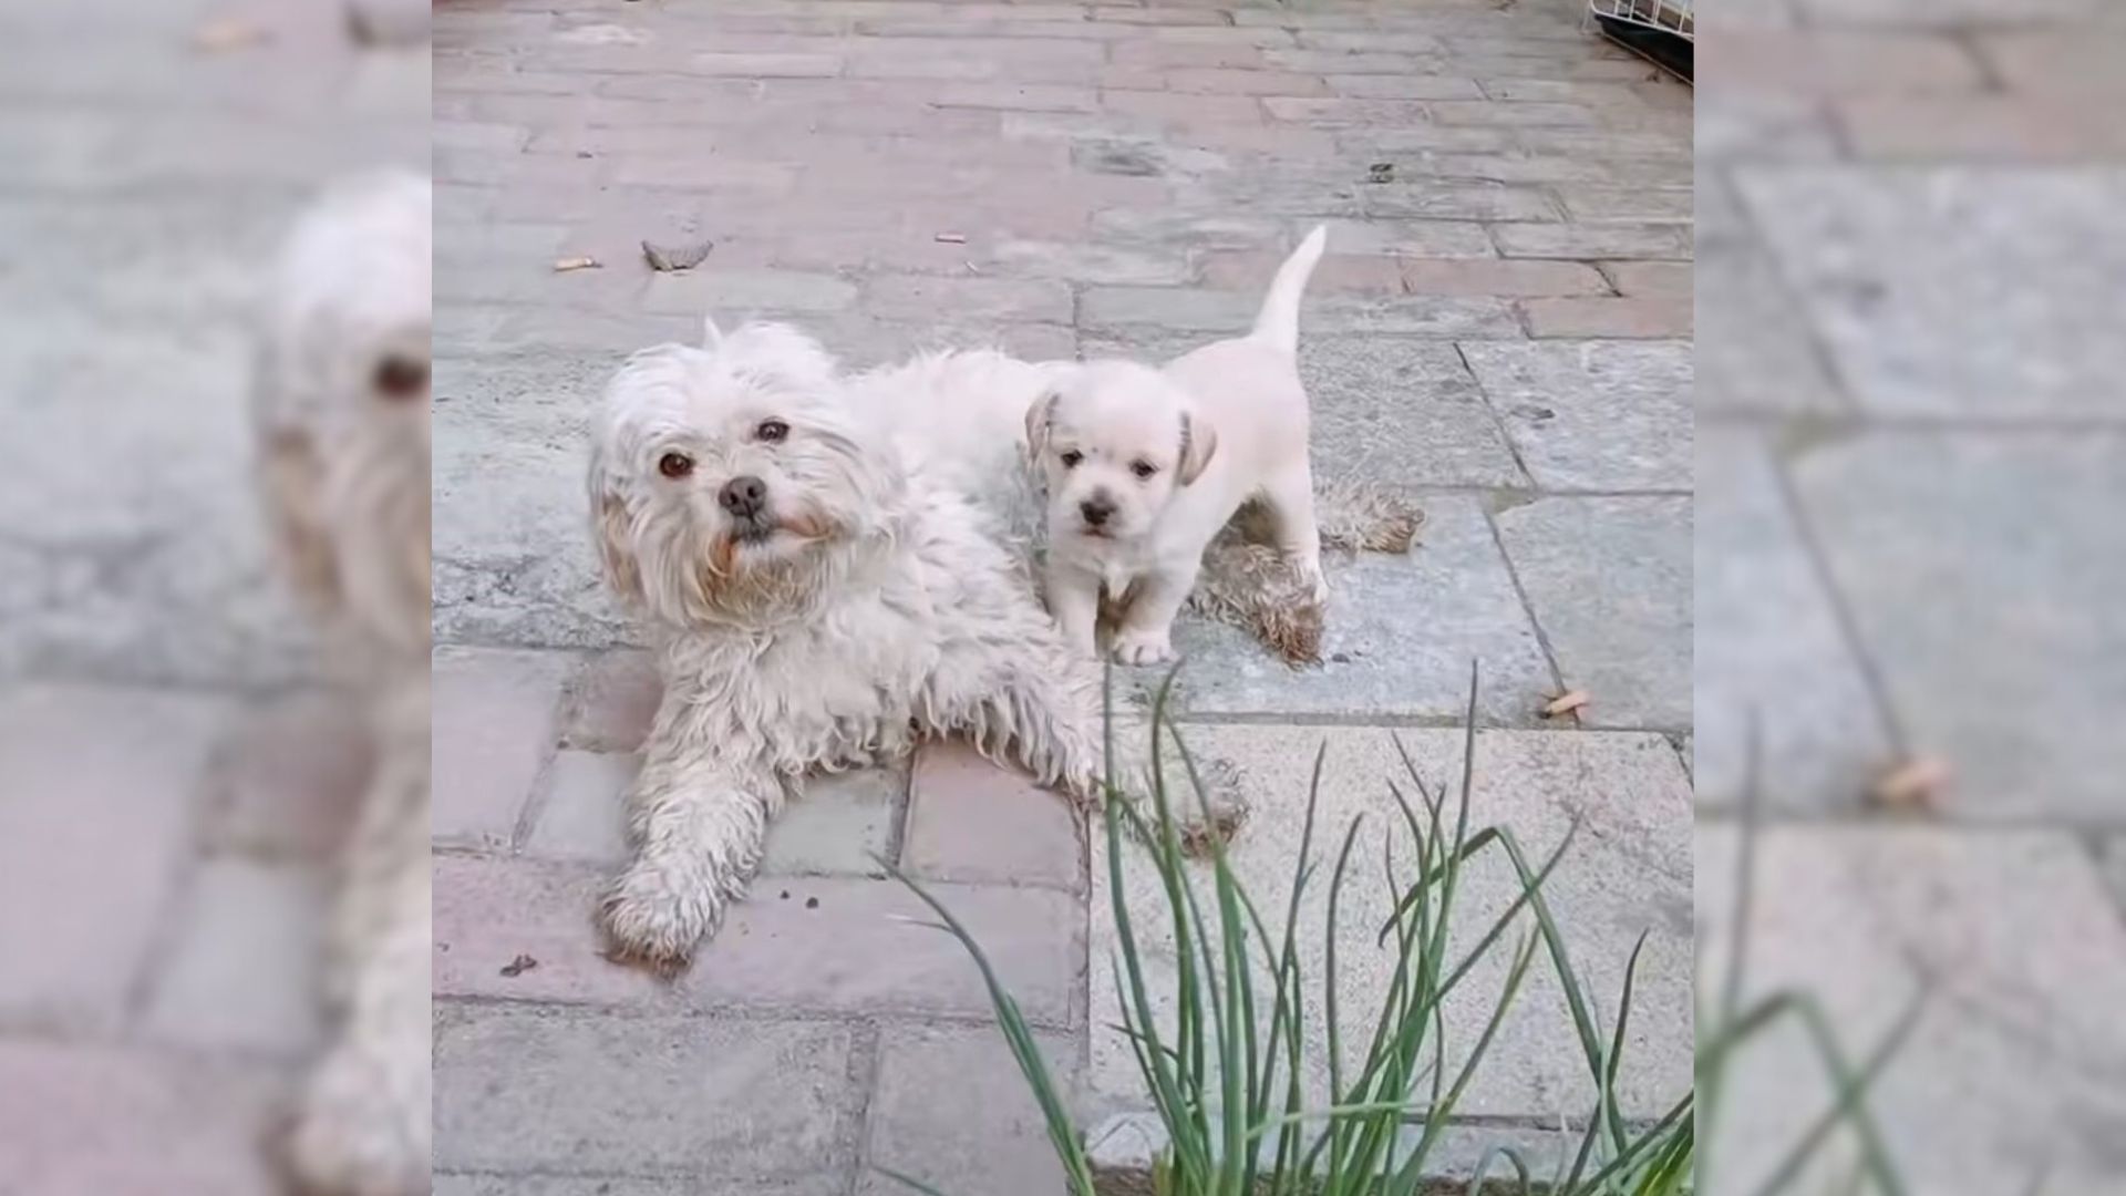
[[[1471,660],[1488,679],[1478,711],[1486,724],[1524,724],[1554,692],[1478,498],[1429,496],[1407,555],[1324,553],[1322,566],[1331,596],[1318,666],[1284,664],[1239,628],[1178,624],[1176,649],[1188,664],[1176,690],[1188,717],[1458,719]]]

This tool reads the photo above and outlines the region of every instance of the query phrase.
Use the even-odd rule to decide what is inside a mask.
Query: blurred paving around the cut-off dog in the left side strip
[[[368,753],[266,553],[253,304],[427,166],[427,4],[0,4],[0,1192],[270,1192]]]

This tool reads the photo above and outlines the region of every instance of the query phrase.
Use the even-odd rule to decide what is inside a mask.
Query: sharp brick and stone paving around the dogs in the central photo
[[[799,319],[855,362],[1154,355],[1242,328],[1322,219],[1320,472],[1403,487],[1429,524],[1407,558],[1333,566],[1320,670],[1186,628],[1191,724],[1248,768],[1267,860],[1318,728],[1333,807],[1378,807],[1382,728],[1448,766],[1480,658],[1486,800],[1537,841],[1567,811],[1624,832],[1560,883],[1607,998],[1656,932],[1633,1085],[1652,1107],[1688,1083],[1688,89],[1563,0],[474,0],[436,40],[444,1192],[1052,1183],[972,970],[889,919],[914,907],[872,849],[1001,956],[1089,1115],[1131,1104],[1086,1030],[1108,928],[1078,832],[957,749],[797,809],[676,985],[595,956],[655,681],[580,532],[587,423],[621,351],[706,311]],[[682,236],[716,240],[708,264],[653,277],[638,240]],[[570,255],[604,266],[553,272]],[[1584,726],[1539,719],[1560,687],[1592,694]],[[1577,1107],[1550,1028],[1516,1026],[1484,1113]]]

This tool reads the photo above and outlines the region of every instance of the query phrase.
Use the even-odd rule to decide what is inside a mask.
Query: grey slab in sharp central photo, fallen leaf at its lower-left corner
[[[1537,498],[1495,519],[1565,687],[1590,696],[1580,721],[1688,728],[1692,500]]]

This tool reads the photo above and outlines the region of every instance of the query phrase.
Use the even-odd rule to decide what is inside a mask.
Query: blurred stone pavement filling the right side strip
[[[1701,17],[1707,975],[1754,721],[1754,987],[1818,992],[1856,1051],[1933,992],[1875,1100],[1911,1190],[2115,1192],[2126,23],[2103,0]],[[1952,770],[1933,809],[1869,804],[1911,758]],[[1828,1100],[1813,1058],[1745,1058],[1737,1190]]]

